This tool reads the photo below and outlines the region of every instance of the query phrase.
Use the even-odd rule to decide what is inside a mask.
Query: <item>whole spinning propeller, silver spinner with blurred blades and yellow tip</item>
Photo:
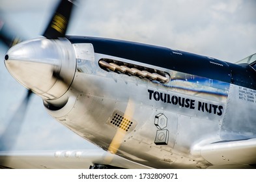
[[[14,117],[10,120],[7,129],[0,136],[0,150],[10,150],[18,137],[14,133],[17,134],[21,126],[29,99],[31,98],[31,92],[38,94],[43,99],[55,99],[62,96],[72,83],[72,74],[74,76],[76,66],[72,67],[70,63],[67,63],[67,58],[70,60],[72,53],[68,52],[70,47],[63,43],[64,39],[60,41],[59,38],[64,38],[66,34],[73,6],[72,1],[61,0],[44,31],[43,36],[45,38],[21,42],[14,47],[10,47],[7,55],[5,55],[5,65],[8,71],[23,86],[28,88],[29,92],[20,107],[18,107],[18,110],[14,113]],[[1,40],[8,46],[19,42],[7,37],[1,31],[1,27],[0,33]],[[56,44],[59,46],[56,46]],[[72,49],[72,45],[70,46],[70,49]],[[50,59],[45,56],[47,55],[45,53],[51,55]],[[59,53],[64,53],[64,55],[60,56]],[[74,59],[76,58],[74,57]],[[72,68],[74,68],[73,73],[69,71]],[[38,80],[40,80],[40,83],[38,83]],[[124,116],[125,118],[132,119],[133,115],[134,102],[129,99]],[[111,144],[109,144],[108,151],[110,153],[117,153],[125,135],[126,133],[122,129],[117,130]],[[106,162],[111,162],[111,160],[107,159]]]

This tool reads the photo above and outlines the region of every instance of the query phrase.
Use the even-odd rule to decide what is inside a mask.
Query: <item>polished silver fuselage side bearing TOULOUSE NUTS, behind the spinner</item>
[[[51,116],[104,150],[153,168],[207,168],[212,161],[206,161],[200,146],[255,137],[252,88],[102,53],[88,40],[66,46],[72,47],[72,56],[62,64],[68,59],[76,68],[72,83],[61,79],[68,86],[64,94],[51,93],[55,98],[38,95]],[[168,81],[104,68],[100,60],[157,70]],[[214,59],[208,61],[221,69]]]

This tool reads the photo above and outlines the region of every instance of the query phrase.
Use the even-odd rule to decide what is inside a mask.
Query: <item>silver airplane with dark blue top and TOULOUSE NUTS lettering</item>
[[[29,90],[23,112],[33,92],[57,122],[103,150],[1,152],[0,166],[255,168],[255,54],[234,64],[66,36],[72,6],[61,0],[44,37],[10,47],[5,66]]]

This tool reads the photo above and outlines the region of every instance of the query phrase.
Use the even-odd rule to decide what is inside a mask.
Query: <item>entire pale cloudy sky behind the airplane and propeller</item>
[[[56,0],[0,0],[12,31],[36,38],[44,29]],[[67,34],[98,36],[160,45],[236,62],[256,53],[254,0],[87,0],[78,1]],[[0,57],[7,48],[0,44]],[[0,136],[26,90],[0,61]],[[66,129],[33,95],[13,150],[86,149],[92,144]]]

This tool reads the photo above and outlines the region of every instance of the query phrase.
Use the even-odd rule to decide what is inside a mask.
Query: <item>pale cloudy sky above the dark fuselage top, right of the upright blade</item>
[[[76,31],[71,32],[162,45],[231,62],[256,50],[254,1],[107,2],[87,1],[83,10],[78,8]]]

